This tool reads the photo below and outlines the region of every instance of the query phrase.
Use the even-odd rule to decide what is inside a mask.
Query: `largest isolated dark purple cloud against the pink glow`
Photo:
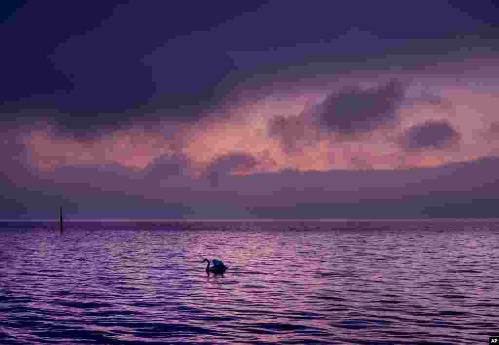
[[[351,86],[330,94],[314,113],[329,131],[346,135],[370,132],[396,124],[404,92],[404,85],[396,80],[368,89]]]

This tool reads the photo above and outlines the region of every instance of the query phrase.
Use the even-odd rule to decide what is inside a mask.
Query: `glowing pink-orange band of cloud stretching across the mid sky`
[[[352,84],[352,80],[343,83]],[[137,126],[93,140],[60,137],[50,127],[37,128],[24,136],[24,145],[31,163],[41,170],[81,164],[120,164],[144,170],[159,157],[180,155],[190,162],[186,169],[191,176],[198,177],[217,157],[230,156],[235,152],[254,157],[258,164],[241,171],[235,170],[234,174],[289,169],[327,171],[432,167],[499,154],[499,140],[495,139],[491,130],[497,123],[496,109],[499,106],[499,94],[494,93],[493,88],[466,88],[453,85],[450,79],[441,79],[438,88],[436,82],[432,86],[431,92],[435,96],[431,99],[419,97],[417,92],[414,96],[413,91],[417,91],[414,85],[425,81],[435,82],[434,79],[421,77],[419,84],[408,83],[410,96],[401,105],[397,98],[398,109],[389,107],[390,111],[394,111],[390,113],[389,125],[378,123],[369,127],[369,131],[349,137],[335,130],[334,126],[327,130],[320,126],[316,114],[310,110],[324,100],[328,89],[311,91],[308,87],[302,94],[293,89],[286,95],[281,89],[275,96],[270,94],[259,100],[241,102],[239,106],[226,109],[223,116],[214,114],[195,123],[180,125],[160,121],[157,128]],[[356,82],[368,89],[370,87],[370,90],[377,90],[373,89],[375,79]],[[342,89],[338,83],[336,88]],[[369,93],[372,97],[373,92]],[[334,110],[334,107],[331,109]],[[369,115],[368,108],[363,111],[366,116]],[[342,116],[348,116],[348,112],[342,113]],[[392,119],[395,117],[398,121],[394,124]],[[357,117],[354,119],[358,120]],[[423,128],[421,126],[425,123],[448,124],[444,126],[451,129],[452,138],[431,139],[428,133],[421,132],[419,139],[443,140],[445,143],[451,140],[456,143],[455,139],[459,137],[459,145],[420,145],[418,152],[408,152],[407,147],[400,145],[399,138],[411,133],[411,128],[413,132],[415,128]],[[433,134],[438,136],[438,133]]]

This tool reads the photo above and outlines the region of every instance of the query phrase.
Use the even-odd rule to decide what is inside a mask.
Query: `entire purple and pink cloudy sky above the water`
[[[174,2],[1,2],[0,219],[497,218],[492,1]]]

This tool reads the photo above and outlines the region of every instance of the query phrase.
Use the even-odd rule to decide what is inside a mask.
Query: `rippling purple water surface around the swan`
[[[229,266],[205,272],[204,258]],[[487,344],[498,221],[0,224],[0,344]]]

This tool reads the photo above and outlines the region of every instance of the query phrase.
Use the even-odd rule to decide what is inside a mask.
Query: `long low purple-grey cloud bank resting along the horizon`
[[[497,204],[499,193],[497,157],[408,170],[230,176],[227,172],[257,164],[254,157],[233,154],[209,168],[220,173],[212,175],[216,189],[204,179],[170,175],[159,181],[161,171],[169,171],[162,169],[163,161],[170,166],[167,157],[160,159],[157,175],[117,164],[60,166],[42,173],[10,166],[9,178],[0,179],[0,218],[54,218],[61,203],[83,218],[494,217],[489,206]]]

